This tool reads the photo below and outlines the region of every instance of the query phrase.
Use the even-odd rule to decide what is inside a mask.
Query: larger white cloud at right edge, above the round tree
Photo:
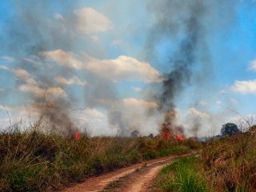
[[[250,81],[235,81],[230,90],[239,94],[256,94],[256,79]]]

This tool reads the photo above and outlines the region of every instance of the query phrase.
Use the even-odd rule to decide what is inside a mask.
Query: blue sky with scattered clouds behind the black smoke
[[[198,40],[190,77],[171,98],[176,123],[186,136],[210,136],[254,117],[253,0],[0,0],[0,129],[46,110],[49,122],[68,119],[93,136],[158,134],[156,97],[175,59],[186,58],[189,18]]]

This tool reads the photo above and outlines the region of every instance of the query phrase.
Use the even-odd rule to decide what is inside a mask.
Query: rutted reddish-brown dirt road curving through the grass
[[[87,179],[85,182],[62,190],[62,192],[148,191],[147,188],[158,174],[158,171],[162,166],[173,161],[174,158],[175,156],[170,156],[135,164],[109,174]]]

